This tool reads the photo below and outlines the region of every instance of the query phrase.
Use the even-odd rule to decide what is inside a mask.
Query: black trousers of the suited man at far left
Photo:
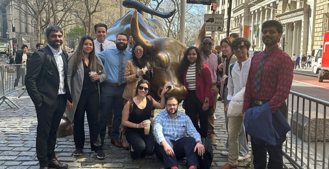
[[[56,134],[61,117],[65,111],[65,106],[65,94],[59,94],[54,105],[51,107],[47,107],[45,104],[42,104],[40,108],[35,106],[38,119],[36,152],[40,167],[47,167],[48,159],[56,157]]]

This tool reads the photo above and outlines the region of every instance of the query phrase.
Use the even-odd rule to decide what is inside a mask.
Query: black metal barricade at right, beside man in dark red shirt
[[[329,102],[290,91],[287,107],[292,131],[284,142],[284,156],[295,169],[328,169]]]

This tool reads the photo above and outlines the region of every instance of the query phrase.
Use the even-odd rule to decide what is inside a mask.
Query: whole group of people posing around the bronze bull
[[[84,153],[86,113],[90,148],[99,159],[106,157],[102,147],[107,128],[111,144],[128,149],[132,159],[156,154],[165,169],[178,169],[177,160],[186,157],[188,169],[199,169],[198,155],[206,152],[201,138],[218,144],[214,132],[217,100],[224,100],[228,132],[225,151],[221,152],[228,155],[228,163],[221,169],[237,169],[239,160],[249,158],[247,141],[252,145],[254,169],[265,168],[267,153],[268,169],[283,168],[282,143],[270,145],[253,136],[248,139],[243,123],[249,108],[267,102],[272,113],[280,109],[284,117],[287,115],[284,101],[294,67],[277,45],[283,33],[280,22],[263,23],[265,50],[253,59],[248,56],[251,43],[236,33],[221,40],[217,50],[211,36],[202,38],[200,49],[187,48],[177,70],[188,91],[182,103],[185,113],[178,110],[178,99],[165,98],[168,84],[162,89],[160,101],[152,97],[149,80],[156,77],[152,76],[146,48],[133,45],[133,38],[125,33],[117,35],[116,43],[107,41],[106,30],[105,24],[96,24],[96,39],[82,37],[75,53],[68,57],[60,48],[63,31],[52,25],[46,30],[47,46],[29,57],[25,82],[37,113],[40,169],[68,168],[54,152],[64,112],[74,124],[75,156]],[[23,54],[24,58],[27,60]],[[236,98],[239,92],[245,92],[240,96],[242,103]],[[165,110],[153,122],[155,108]]]

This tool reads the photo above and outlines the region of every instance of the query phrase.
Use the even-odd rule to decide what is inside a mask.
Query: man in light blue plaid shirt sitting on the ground
[[[186,137],[186,133],[190,137]],[[169,97],[166,110],[156,116],[154,136],[157,141],[155,153],[164,160],[165,169],[178,169],[177,160],[185,156],[188,169],[199,168],[197,155],[204,154],[205,147],[191,119],[178,111],[178,101],[175,97]]]

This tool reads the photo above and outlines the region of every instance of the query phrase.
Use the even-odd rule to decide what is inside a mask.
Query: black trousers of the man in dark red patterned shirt
[[[256,107],[252,102],[251,107]],[[279,108],[284,117],[287,117],[287,105],[284,104]],[[254,169],[265,169],[267,163],[267,153],[269,153],[269,164],[268,169],[282,169],[283,168],[283,159],[282,159],[282,144],[273,146],[268,145],[265,142],[259,143],[254,142],[254,138],[251,137],[251,147],[254,155]]]

